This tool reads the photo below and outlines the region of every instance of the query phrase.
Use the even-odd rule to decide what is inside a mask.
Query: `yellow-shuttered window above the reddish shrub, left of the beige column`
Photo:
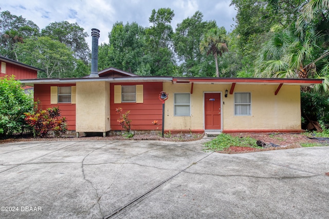
[[[76,104],[76,86],[50,86],[50,104]]]

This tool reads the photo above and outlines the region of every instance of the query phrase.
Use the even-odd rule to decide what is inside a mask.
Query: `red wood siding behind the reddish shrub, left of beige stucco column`
[[[50,86],[75,86],[75,84],[61,85],[34,85],[34,101],[40,102],[38,109],[47,109],[59,106],[61,115],[67,120],[67,129],[70,131],[76,130],[76,105],[70,103],[50,104]]]

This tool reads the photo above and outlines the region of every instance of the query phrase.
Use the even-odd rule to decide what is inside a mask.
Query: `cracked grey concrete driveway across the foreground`
[[[195,142],[0,145],[0,218],[328,218],[329,147],[246,154]]]

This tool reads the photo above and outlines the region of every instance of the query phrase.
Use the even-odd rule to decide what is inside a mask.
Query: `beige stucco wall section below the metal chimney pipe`
[[[77,82],[76,86],[76,131],[109,131],[109,83]]]

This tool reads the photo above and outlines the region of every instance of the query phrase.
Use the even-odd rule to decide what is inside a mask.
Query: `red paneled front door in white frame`
[[[221,93],[205,93],[205,129],[221,129]]]

